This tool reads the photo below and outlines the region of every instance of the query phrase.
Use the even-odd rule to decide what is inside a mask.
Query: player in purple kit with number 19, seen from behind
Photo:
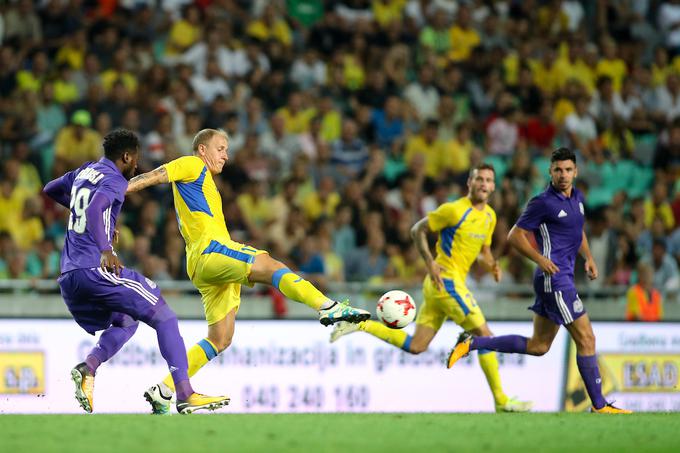
[[[113,251],[116,219],[128,179],[137,168],[139,139],[130,131],[116,130],[104,137],[103,146],[104,157],[98,162],[88,162],[44,188],[47,196],[71,211],[58,279],[64,302],[86,332],[104,330],[85,361],[71,370],[76,399],[92,412],[97,368],[120,350],[142,321],[156,331],[177,388],[177,411],[189,414],[225,406],[226,397],[194,392],[177,316],[156,284],[125,269]]]

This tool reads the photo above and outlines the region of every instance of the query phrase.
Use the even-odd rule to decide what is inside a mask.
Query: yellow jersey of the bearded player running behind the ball
[[[430,212],[427,223],[438,234],[435,261],[444,268],[442,277],[465,280],[482,246],[491,245],[496,212],[489,205],[477,210],[463,197]]]

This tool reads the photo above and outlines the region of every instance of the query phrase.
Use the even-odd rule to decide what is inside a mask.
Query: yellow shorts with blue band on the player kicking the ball
[[[241,304],[241,285],[248,282],[255,257],[267,253],[230,239],[212,240],[196,263],[192,282],[201,293],[208,325],[224,319]]]

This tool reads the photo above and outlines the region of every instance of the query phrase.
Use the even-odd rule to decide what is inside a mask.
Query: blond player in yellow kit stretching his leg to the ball
[[[168,162],[130,180],[128,192],[172,183],[179,229],[186,243],[187,273],[201,293],[208,336],[187,351],[189,376],[224,351],[234,335],[241,303],[241,285],[264,283],[286,297],[319,312],[321,324],[357,323],[370,318],[365,310],[336,302],[292,272],[264,250],[232,241],[222,213],[222,199],[213,175],[229,159],[229,138],[223,131],[203,129],[193,140],[193,156]],[[174,392],[170,376],[144,394],[154,413],[165,413]]]

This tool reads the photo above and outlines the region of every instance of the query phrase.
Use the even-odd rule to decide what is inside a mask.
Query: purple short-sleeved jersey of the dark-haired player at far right
[[[536,269],[534,286],[545,293],[574,288],[574,263],[583,240],[584,201],[576,188],[567,198],[550,184],[529,201],[517,221],[518,227],[534,233],[542,255],[560,268],[553,276]]]

